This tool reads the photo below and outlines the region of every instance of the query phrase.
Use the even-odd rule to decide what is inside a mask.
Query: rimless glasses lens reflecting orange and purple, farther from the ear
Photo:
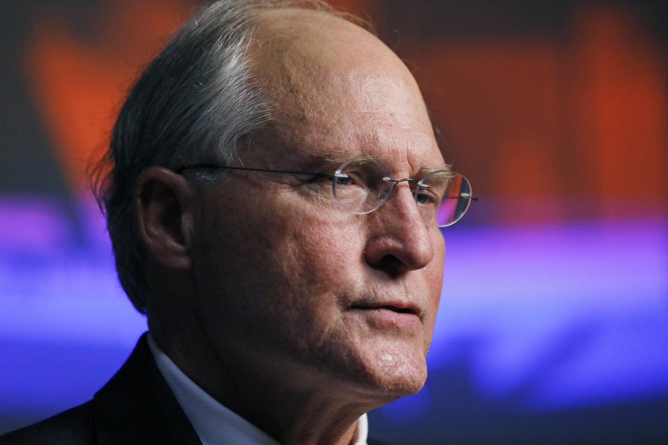
[[[459,221],[471,202],[468,179],[447,170],[429,173],[415,187],[414,193],[422,218],[438,227]]]

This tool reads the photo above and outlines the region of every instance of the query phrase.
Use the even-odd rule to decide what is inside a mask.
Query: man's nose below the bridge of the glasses
[[[434,258],[432,231],[437,229],[424,223],[408,184],[397,184],[383,206],[367,216],[364,257],[373,268],[394,277]]]

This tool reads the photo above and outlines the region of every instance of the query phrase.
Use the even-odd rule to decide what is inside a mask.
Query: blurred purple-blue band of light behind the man
[[[120,289],[90,201],[74,222],[43,197],[3,198],[0,214],[0,414],[35,420],[88,400],[145,318]],[[431,387],[455,385],[441,373],[462,357],[477,397],[519,412],[668,396],[667,227],[655,218],[444,229],[430,379],[379,415],[401,423],[449,403]]]

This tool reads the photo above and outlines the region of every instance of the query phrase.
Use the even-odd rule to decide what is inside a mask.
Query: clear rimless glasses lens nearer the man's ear
[[[392,191],[392,170],[383,161],[351,159],[336,170],[334,197],[345,211],[363,215],[378,209]]]

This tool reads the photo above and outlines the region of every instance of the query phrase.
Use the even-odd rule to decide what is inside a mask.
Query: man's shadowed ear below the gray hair
[[[153,166],[134,188],[137,229],[147,252],[170,269],[191,267],[193,188],[181,175]]]

